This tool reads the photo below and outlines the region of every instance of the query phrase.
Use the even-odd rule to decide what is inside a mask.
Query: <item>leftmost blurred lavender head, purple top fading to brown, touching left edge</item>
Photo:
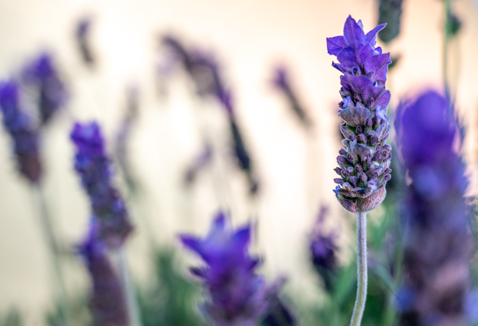
[[[11,134],[20,173],[37,184],[42,177],[39,130],[34,120],[20,108],[20,87],[14,80],[0,83],[3,125]]]

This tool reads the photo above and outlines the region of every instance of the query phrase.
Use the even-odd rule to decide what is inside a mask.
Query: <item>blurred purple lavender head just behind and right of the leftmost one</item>
[[[40,54],[24,67],[22,77],[25,85],[33,88],[40,120],[43,125],[47,124],[65,106],[68,98],[53,57],[47,53]]]

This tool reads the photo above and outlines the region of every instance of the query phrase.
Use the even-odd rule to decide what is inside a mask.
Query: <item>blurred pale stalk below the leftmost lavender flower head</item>
[[[40,215],[40,223],[42,225],[43,235],[47,242],[48,249],[51,255],[52,267],[54,272],[54,285],[57,299],[59,301],[59,308],[61,318],[63,319],[64,325],[69,325],[69,312],[68,312],[68,297],[66,295],[65,282],[63,280],[63,273],[61,271],[60,264],[60,248],[53,231],[53,223],[48,213],[46,207],[46,201],[43,194],[41,185],[32,185],[32,195],[35,205],[37,206],[36,211]]]

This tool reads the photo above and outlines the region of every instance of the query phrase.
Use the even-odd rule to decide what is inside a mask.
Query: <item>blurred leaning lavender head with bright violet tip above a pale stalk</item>
[[[110,162],[96,122],[76,123],[71,139],[76,145],[75,169],[91,201],[98,222],[98,238],[119,248],[132,231],[125,203],[112,186]]]

